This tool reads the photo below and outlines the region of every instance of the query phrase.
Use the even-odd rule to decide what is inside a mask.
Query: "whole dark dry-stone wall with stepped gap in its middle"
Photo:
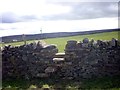
[[[54,61],[58,49],[40,42],[2,50],[2,76],[5,78],[59,77],[92,78],[120,74],[120,41],[94,41],[88,38],[67,41],[62,61]]]

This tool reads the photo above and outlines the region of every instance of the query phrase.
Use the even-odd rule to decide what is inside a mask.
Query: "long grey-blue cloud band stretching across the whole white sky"
[[[0,23],[16,23],[25,22],[31,20],[79,20],[79,19],[92,19],[92,18],[102,18],[102,17],[117,17],[118,11],[111,9],[110,6],[118,5],[117,2],[54,2],[52,4],[59,4],[62,6],[71,7],[71,12],[49,15],[38,18],[36,15],[24,15],[17,16],[11,12],[6,12],[1,14]]]

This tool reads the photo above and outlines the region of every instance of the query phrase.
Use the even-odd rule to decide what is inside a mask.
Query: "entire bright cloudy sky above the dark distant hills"
[[[0,37],[118,28],[119,0],[0,0]]]

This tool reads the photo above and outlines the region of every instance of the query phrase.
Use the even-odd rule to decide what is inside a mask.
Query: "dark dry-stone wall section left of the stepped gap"
[[[37,77],[45,73],[57,52],[55,45],[42,46],[39,42],[19,47],[5,46],[2,51],[3,79]]]

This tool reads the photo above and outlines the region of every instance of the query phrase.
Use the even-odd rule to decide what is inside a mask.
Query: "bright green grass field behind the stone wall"
[[[64,52],[64,48],[66,45],[66,42],[68,40],[77,40],[77,41],[81,41],[83,40],[83,38],[89,38],[89,39],[94,39],[94,40],[111,40],[112,38],[116,38],[118,39],[118,33],[120,33],[120,31],[114,31],[114,32],[105,32],[105,33],[98,33],[98,34],[90,34],[90,35],[78,35],[78,36],[70,36],[70,37],[61,37],[61,38],[49,38],[49,39],[43,39],[47,44],[56,44],[59,52]],[[29,40],[27,41],[27,43],[31,43],[35,40]],[[37,40],[38,41],[38,40]],[[6,43],[3,44],[4,45],[22,45],[23,42],[15,42],[15,43]],[[0,44],[0,46],[2,46],[2,44]]]

